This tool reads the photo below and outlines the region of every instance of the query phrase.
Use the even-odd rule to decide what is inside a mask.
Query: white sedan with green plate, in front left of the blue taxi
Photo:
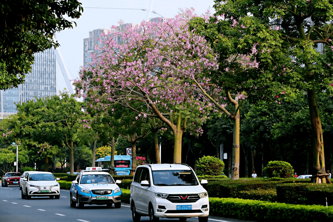
[[[29,172],[23,178],[21,198],[31,199],[32,196],[49,196],[60,198],[60,185],[50,172]]]

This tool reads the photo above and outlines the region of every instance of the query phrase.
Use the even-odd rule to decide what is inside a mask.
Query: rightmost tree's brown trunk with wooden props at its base
[[[324,141],[323,131],[321,128],[320,115],[317,104],[317,96],[314,89],[307,90],[310,120],[311,120],[311,131],[312,131],[312,147],[313,147],[313,168],[315,175],[319,170],[320,173],[326,173],[325,170],[325,157],[324,157]],[[322,179],[322,183],[326,183],[326,179]]]

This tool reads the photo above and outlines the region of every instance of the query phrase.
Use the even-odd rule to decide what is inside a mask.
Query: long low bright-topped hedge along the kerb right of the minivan
[[[333,220],[333,207],[270,203],[238,198],[209,198],[210,215],[270,222],[319,222]]]

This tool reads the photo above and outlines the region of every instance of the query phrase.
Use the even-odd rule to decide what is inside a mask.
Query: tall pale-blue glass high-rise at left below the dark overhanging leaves
[[[25,83],[18,88],[2,90],[0,97],[1,115],[16,113],[14,103],[51,97],[57,94],[57,65],[53,49],[35,54],[32,70],[25,77]]]

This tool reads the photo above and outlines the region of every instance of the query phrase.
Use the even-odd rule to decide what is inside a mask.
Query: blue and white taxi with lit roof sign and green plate
[[[72,181],[70,189],[70,206],[83,208],[85,204],[97,204],[115,208],[121,206],[122,191],[112,176],[102,171],[102,167],[87,167]]]

